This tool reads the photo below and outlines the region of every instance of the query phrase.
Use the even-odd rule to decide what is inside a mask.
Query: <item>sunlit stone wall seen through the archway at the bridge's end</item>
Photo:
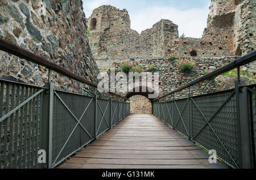
[[[142,95],[134,95],[130,99],[130,113],[131,114],[151,114],[152,104]]]

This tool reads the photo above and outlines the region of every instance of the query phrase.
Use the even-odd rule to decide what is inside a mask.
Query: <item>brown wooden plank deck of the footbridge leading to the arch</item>
[[[154,115],[131,114],[58,168],[226,168]]]

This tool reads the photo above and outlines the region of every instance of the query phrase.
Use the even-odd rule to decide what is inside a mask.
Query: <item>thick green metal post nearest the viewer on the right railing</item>
[[[237,129],[238,129],[238,166],[254,168],[253,147],[250,127],[250,106],[245,82],[236,81]]]

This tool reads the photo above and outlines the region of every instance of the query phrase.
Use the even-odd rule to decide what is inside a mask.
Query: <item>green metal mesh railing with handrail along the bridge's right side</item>
[[[240,78],[240,65],[255,60],[256,51],[154,99],[153,114],[204,149],[216,150],[214,155],[233,168],[255,168],[256,85],[246,85]],[[238,70],[235,89],[191,95],[190,86],[234,68]],[[175,93],[186,88],[188,97],[175,99]]]

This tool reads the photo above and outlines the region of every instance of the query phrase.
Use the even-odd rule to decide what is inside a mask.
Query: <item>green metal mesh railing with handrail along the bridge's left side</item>
[[[49,70],[45,87],[0,79],[0,169],[54,168],[129,115],[122,95],[97,98],[96,83],[3,39],[0,49]],[[52,70],[94,87],[94,97],[55,90]],[[42,150],[45,162],[38,161]]]

